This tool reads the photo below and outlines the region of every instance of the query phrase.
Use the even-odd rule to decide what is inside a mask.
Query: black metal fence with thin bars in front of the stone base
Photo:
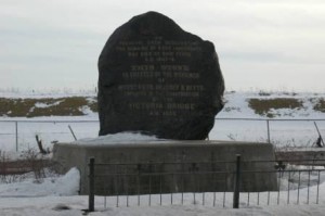
[[[246,169],[247,163],[255,164],[249,167],[259,167],[258,164],[264,163],[272,163],[273,166],[263,170]],[[195,168],[199,162],[167,164],[186,168],[177,173],[165,171],[164,168],[157,171],[153,166],[162,167],[166,163],[96,164],[91,158],[89,211],[94,211],[95,203],[104,208],[173,204],[237,208],[249,205],[318,204],[320,200],[325,201],[320,196],[321,185],[325,181],[323,160],[306,161],[309,165],[302,166],[295,165],[297,161],[240,161],[237,155],[234,161],[214,162],[221,164],[214,170],[199,171]],[[299,161],[299,164],[304,164],[304,161]],[[261,175],[275,178],[269,182],[255,181],[261,179]],[[273,186],[266,186],[270,182]],[[262,185],[262,188],[251,186],[256,183]],[[100,201],[95,202],[95,198]]]

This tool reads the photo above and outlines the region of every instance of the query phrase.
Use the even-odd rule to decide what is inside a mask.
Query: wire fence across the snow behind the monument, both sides
[[[324,119],[216,118],[210,140],[271,142],[275,145],[308,147],[325,132]],[[0,145],[4,151],[22,151],[37,147],[35,137],[46,148],[55,142],[70,142],[96,137],[99,120],[0,120]],[[74,134],[73,134],[73,132]]]

